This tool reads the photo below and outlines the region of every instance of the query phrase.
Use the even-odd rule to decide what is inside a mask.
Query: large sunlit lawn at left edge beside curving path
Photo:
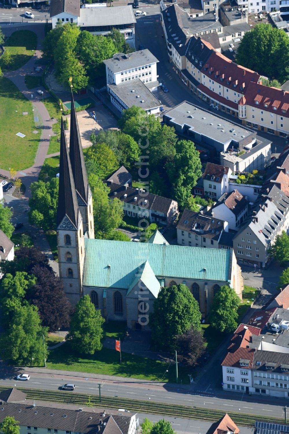
[[[23,115],[28,112],[28,115]],[[23,170],[33,165],[39,144],[32,103],[9,79],[0,79],[0,168]],[[25,134],[21,138],[18,132]]]

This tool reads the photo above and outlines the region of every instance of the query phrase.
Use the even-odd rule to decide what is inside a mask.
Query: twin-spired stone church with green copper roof
[[[143,206],[144,197],[138,199]],[[76,304],[89,294],[106,320],[126,321],[129,329],[149,328],[149,314],[164,286],[187,285],[203,318],[223,285],[242,299],[243,278],[233,249],[173,246],[158,231],[147,243],[95,240],[73,95],[69,150],[61,122],[57,243],[59,275],[69,300]]]

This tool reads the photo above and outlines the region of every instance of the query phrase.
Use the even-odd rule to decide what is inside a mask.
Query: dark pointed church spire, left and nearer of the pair
[[[73,226],[78,229],[76,190],[68,155],[63,119],[61,118],[57,227],[61,224],[64,217],[68,217]]]

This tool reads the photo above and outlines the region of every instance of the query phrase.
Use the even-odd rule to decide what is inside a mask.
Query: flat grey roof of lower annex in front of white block
[[[144,110],[154,109],[160,107],[161,103],[156,99],[153,93],[148,90],[147,86],[140,80],[132,80],[129,82],[121,83],[118,85],[109,84],[115,94],[126,104],[128,107],[136,105]],[[139,95],[139,98],[138,98]],[[144,102],[141,102],[144,101]]]

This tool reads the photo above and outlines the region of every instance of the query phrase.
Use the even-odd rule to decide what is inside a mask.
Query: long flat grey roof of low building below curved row
[[[223,144],[231,140],[236,142],[242,141],[244,138],[252,135],[251,131],[198,109],[194,104],[187,101],[182,102],[167,112],[164,118],[172,118],[171,122],[176,124],[189,125],[193,128],[194,132],[210,137]],[[230,130],[234,131],[230,132]]]

